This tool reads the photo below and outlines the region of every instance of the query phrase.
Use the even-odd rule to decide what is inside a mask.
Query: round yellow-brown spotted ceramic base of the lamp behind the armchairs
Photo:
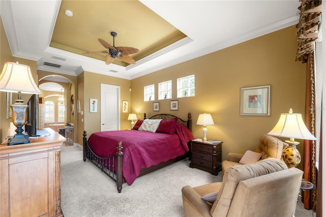
[[[296,167],[301,162],[300,152],[296,149],[296,145],[298,145],[299,143],[298,142],[293,143],[290,141],[285,141],[285,142],[288,143],[289,146],[283,150],[282,153],[283,161],[285,162],[288,168]]]

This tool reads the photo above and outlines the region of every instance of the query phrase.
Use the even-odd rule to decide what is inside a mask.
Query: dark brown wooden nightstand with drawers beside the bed
[[[221,143],[210,143],[196,139],[191,141],[192,161],[191,168],[198,168],[218,175],[222,170],[222,141]]]

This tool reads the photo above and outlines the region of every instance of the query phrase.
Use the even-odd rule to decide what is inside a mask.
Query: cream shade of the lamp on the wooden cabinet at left
[[[0,75],[0,91],[41,94],[34,82],[31,68],[26,65],[7,62]]]

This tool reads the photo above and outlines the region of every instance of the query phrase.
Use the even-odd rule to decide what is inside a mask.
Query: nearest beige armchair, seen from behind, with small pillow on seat
[[[184,186],[185,216],[291,216],[294,215],[303,172],[268,158],[230,167],[223,182]],[[213,203],[202,196],[218,191]]]

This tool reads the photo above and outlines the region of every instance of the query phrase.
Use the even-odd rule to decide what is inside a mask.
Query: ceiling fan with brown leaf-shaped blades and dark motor
[[[114,45],[114,38],[117,36],[116,32],[111,32],[111,35],[113,36],[113,46],[103,39],[98,39],[98,41],[105,47],[107,50],[99,50],[99,51],[88,51],[85,52],[87,54],[93,54],[93,53],[107,53],[105,57],[105,63],[106,65],[112,63],[116,58],[129,63],[129,64],[135,64],[136,62],[134,59],[132,59],[129,55],[132,53],[137,53],[139,49],[133,48],[133,47],[116,47]]]

